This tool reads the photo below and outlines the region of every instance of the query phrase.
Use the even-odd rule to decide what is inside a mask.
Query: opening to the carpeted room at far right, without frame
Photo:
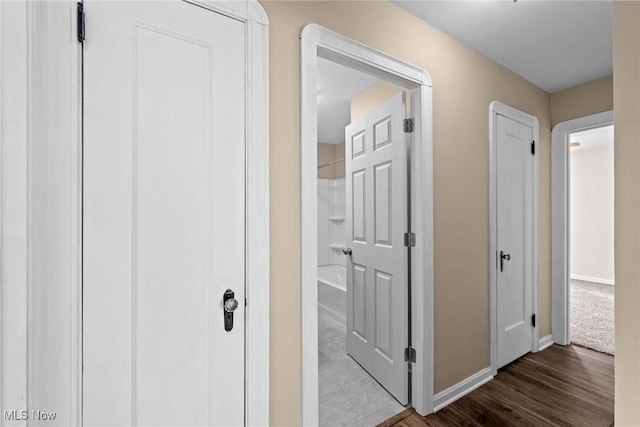
[[[613,355],[613,124],[569,134],[569,337]]]

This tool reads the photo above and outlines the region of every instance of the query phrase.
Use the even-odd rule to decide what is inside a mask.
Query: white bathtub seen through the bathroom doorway
[[[318,310],[347,324],[347,269],[344,265],[318,266]]]

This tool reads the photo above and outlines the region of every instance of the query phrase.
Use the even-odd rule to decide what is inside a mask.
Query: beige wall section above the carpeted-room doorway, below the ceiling
[[[610,110],[613,110],[613,76],[551,94],[551,126]]]

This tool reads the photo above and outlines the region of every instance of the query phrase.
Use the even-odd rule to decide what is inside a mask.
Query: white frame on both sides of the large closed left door
[[[245,24],[246,34],[246,332],[245,332],[245,422],[269,424],[269,144],[268,144],[268,18],[256,0],[222,2],[189,0],[198,7],[229,16]],[[89,5],[87,5],[89,6]],[[85,8],[90,14],[90,7]],[[88,9],[88,10],[87,10]],[[16,40],[0,39],[0,59],[11,59],[11,73],[0,76],[3,87],[15,87],[3,96],[0,114],[17,114],[18,123],[1,134],[4,178],[11,173],[12,185],[21,194],[2,193],[2,212],[15,205],[19,234],[7,230],[2,218],[0,238],[11,237],[11,245],[20,257],[16,271],[21,278],[0,283],[0,303],[10,304],[24,316],[12,318],[9,330],[22,334],[0,334],[0,344],[13,348],[10,359],[0,357],[0,375],[15,372],[6,392],[15,391],[20,401],[44,408],[59,408],[57,419],[69,425],[82,424],[82,44],[77,40],[76,1],[24,2],[10,7],[0,5],[0,19],[14,22]],[[90,26],[91,17],[87,20]],[[9,27],[8,27],[9,28]],[[89,33],[90,34],[90,33]],[[90,43],[90,40],[87,40]],[[4,62],[4,61],[2,61]],[[3,66],[4,64],[0,64]],[[54,71],[52,71],[54,70]],[[7,83],[5,83],[5,81]],[[19,90],[22,90],[20,92]],[[3,94],[3,95],[7,95]],[[58,106],[52,110],[52,106]],[[15,129],[14,129],[15,128]],[[46,138],[41,136],[46,135]],[[40,138],[37,138],[40,136]],[[55,151],[51,150],[55,147]],[[52,152],[55,153],[51,155]],[[36,159],[47,159],[48,168],[34,168]],[[2,166],[0,165],[0,166]],[[46,170],[45,170],[46,169]],[[51,212],[35,211],[55,194]],[[10,199],[7,199],[10,198]],[[37,202],[37,203],[34,203]],[[33,227],[36,225],[37,227]],[[24,229],[24,233],[23,233]],[[49,233],[59,238],[59,246],[47,245]],[[49,239],[50,240],[50,239]],[[42,251],[46,251],[42,255]],[[34,255],[39,257],[35,258]],[[2,252],[1,261],[9,260]],[[43,265],[40,259],[48,259]],[[12,257],[15,258],[15,257]],[[54,306],[44,322],[34,322],[34,302],[40,301],[34,280],[49,271],[51,265],[66,266],[65,274],[47,276],[51,292],[66,297],[68,306]],[[8,291],[11,291],[9,293]],[[16,292],[14,295],[13,291]],[[3,292],[4,291],[4,292]],[[2,295],[4,294],[4,295]],[[40,299],[38,299],[40,298]],[[15,310],[10,310],[14,312]],[[4,312],[4,310],[3,310]],[[3,316],[4,317],[4,316]],[[6,328],[3,327],[3,330]],[[30,351],[60,339],[49,353]],[[11,339],[15,345],[7,346]],[[14,342],[15,341],[15,342]],[[49,345],[50,346],[50,345]],[[20,355],[14,358],[14,355]],[[62,360],[62,362],[61,362]],[[10,362],[10,363],[9,363]],[[11,365],[11,366],[9,366]],[[67,366],[60,372],[59,366]],[[30,377],[31,370],[57,372],[55,378]],[[38,393],[47,389],[48,393]],[[10,396],[14,394],[9,393]],[[64,405],[59,402],[64,401]],[[6,403],[6,402],[5,402]]]

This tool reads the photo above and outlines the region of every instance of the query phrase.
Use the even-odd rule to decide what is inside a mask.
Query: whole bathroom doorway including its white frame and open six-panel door
[[[354,399],[371,408],[377,402],[377,414],[362,413],[350,420],[353,422],[383,421],[393,415],[391,412],[402,410],[399,401],[405,405],[409,399],[418,412],[430,413],[430,78],[417,67],[317,24],[307,25],[300,38],[302,423],[317,425],[319,406],[328,404],[333,411],[336,405],[344,406],[347,389],[353,391]],[[342,77],[327,86],[326,77],[332,73]],[[347,75],[351,83],[345,81],[349,80]],[[352,114],[356,118],[352,100],[368,90],[376,92],[378,102],[352,121]],[[323,112],[323,103],[337,96],[334,92],[342,92],[342,109],[334,105]],[[412,121],[405,120],[407,108]],[[323,135],[332,128],[323,124],[324,116],[334,116],[340,110],[343,119],[332,119],[340,123],[333,130],[335,135]],[[319,181],[319,176],[324,181]],[[382,254],[385,250],[388,253]],[[361,258],[364,254],[365,261]],[[319,270],[333,278],[320,284]],[[346,278],[344,286],[335,283],[341,275]],[[333,376],[320,381],[320,369],[340,368],[341,363],[342,368],[350,365],[359,369],[360,379],[348,384],[339,384]],[[333,375],[345,373],[338,368]],[[328,403],[319,399],[320,394],[327,394],[327,385],[334,391],[342,387],[342,394],[334,393]],[[372,389],[376,390],[374,398],[367,394]],[[320,419],[321,423],[334,421]],[[344,418],[340,422],[345,422]]]

